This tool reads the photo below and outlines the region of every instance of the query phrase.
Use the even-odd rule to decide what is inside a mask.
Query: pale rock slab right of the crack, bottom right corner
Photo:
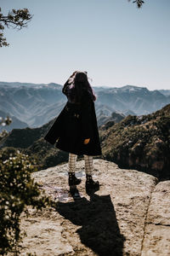
[[[153,190],[144,228],[142,256],[170,255],[170,181]]]

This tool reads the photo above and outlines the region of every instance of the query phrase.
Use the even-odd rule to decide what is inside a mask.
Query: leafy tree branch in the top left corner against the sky
[[[0,8],[0,47],[8,46],[7,40],[3,36],[5,26],[21,29],[27,26],[31,18],[28,9],[12,9],[8,12],[8,15],[3,15]]]

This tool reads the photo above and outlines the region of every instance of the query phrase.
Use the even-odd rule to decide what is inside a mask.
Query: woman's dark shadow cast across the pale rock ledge
[[[78,201],[56,204],[60,215],[73,224],[82,225],[77,230],[82,243],[99,256],[122,255],[124,236],[116,221],[116,212],[110,195],[90,195]]]

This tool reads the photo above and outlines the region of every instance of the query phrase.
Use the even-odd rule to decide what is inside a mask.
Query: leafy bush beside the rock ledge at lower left
[[[17,151],[0,156],[0,254],[19,252],[19,242],[25,235],[20,231],[20,215],[29,213],[27,207],[37,210],[50,205],[50,200],[31,178],[33,167],[26,154]],[[6,160],[4,160],[6,159]]]

